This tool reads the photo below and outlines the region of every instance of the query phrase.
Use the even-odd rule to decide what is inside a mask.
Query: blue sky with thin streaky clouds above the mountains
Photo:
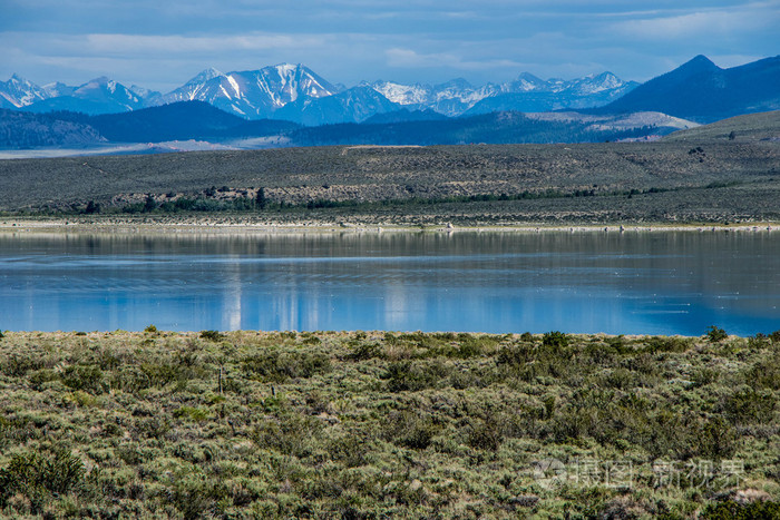
[[[780,0],[0,0],[0,80],[167,92],[208,67],[291,62],[347,87],[646,81],[696,55],[723,68],[777,56],[779,27]]]

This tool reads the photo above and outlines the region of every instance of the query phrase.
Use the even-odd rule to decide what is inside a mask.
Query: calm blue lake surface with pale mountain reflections
[[[780,233],[0,235],[0,330],[780,328]]]

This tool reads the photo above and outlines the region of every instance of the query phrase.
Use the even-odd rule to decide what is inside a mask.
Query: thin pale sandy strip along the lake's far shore
[[[701,224],[701,223],[626,223],[626,224],[534,224],[505,223],[457,226],[448,222],[426,225],[394,223],[296,220],[274,222],[253,217],[69,217],[18,218],[0,217],[0,233],[111,233],[111,234],[287,234],[287,233],[403,233],[403,232],[480,232],[480,233],[774,233],[778,222]]]

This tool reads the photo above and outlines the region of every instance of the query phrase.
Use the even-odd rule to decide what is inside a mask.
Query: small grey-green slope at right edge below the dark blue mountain
[[[675,131],[667,141],[734,140],[737,143],[774,140],[780,143],[780,110],[749,114],[711,125]]]

